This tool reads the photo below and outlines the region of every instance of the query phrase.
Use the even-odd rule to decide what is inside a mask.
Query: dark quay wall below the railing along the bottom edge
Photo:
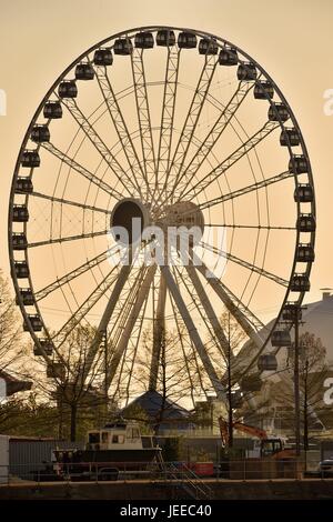
[[[333,479],[278,481],[206,481],[219,500],[333,499]],[[0,485],[0,499],[29,500],[188,500],[185,491],[163,482],[54,483]]]

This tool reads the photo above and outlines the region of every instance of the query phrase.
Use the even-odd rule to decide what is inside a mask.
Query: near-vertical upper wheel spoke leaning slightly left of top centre
[[[143,63],[143,49],[133,49],[133,52],[131,53],[131,64],[137,103],[137,114],[140,129],[143,170],[148,184],[150,184],[155,178],[157,164]]]

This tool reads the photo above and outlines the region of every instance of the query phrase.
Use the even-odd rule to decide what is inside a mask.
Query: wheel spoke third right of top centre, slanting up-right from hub
[[[235,117],[236,111],[242,106],[249,92],[253,89],[253,86],[254,83],[242,81],[239,82],[234,94],[226,103],[222,112],[220,109],[220,114],[213,123],[212,128],[208,132],[206,137],[202,140],[201,145],[196,148],[196,151],[192,155],[192,159],[189,161],[186,168],[179,175],[179,179],[173,188],[174,191],[180,190],[180,193],[182,194],[186,190],[189,182],[198,174],[199,169],[212,152],[213,148],[220,140],[228,126],[231,123],[232,119]]]

